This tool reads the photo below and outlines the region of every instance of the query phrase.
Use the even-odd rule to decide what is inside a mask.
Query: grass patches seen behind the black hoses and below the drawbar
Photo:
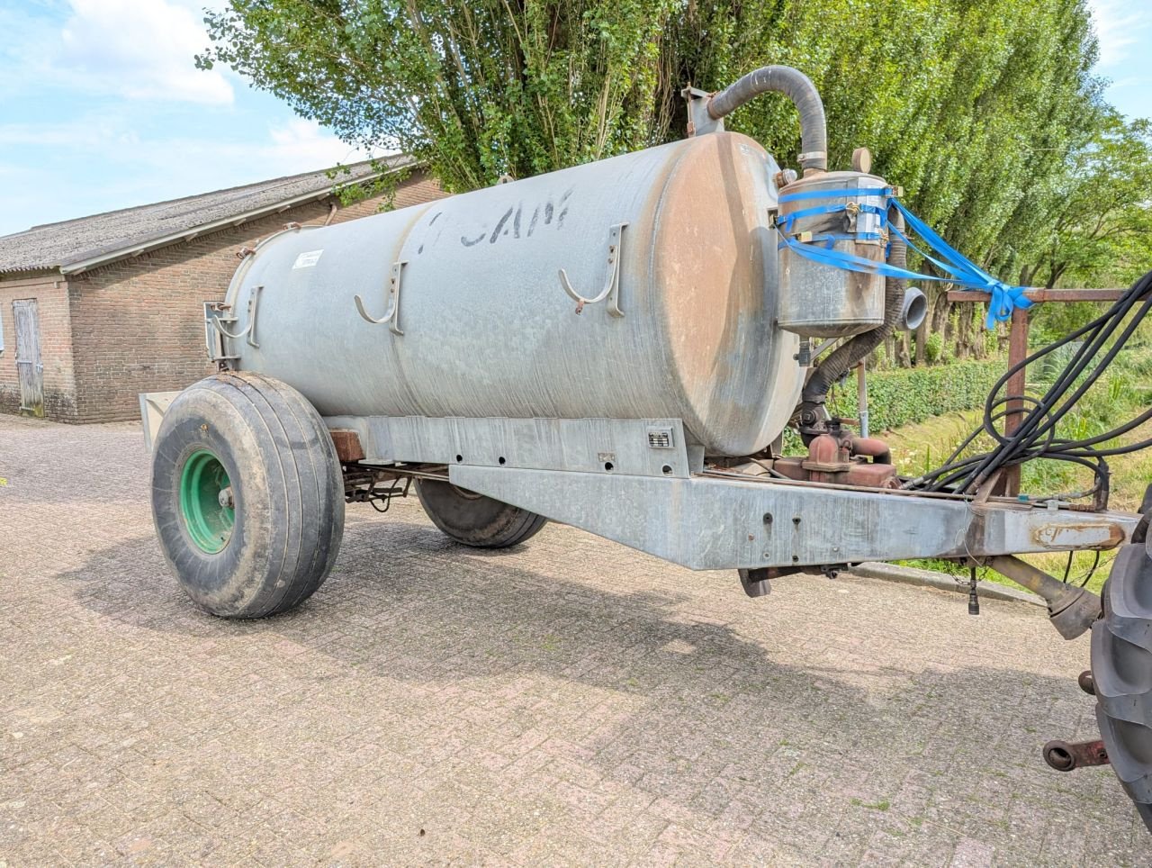
[[[1044,375],[1051,377],[1054,371],[1038,373],[1036,382],[1029,384],[1030,393],[1039,393],[1047,385]],[[1152,407],[1152,347],[1128,349],[1117,356],[1105,376],[1064,416],[1058,429],[1059,435],[1071,439],[1093,437],[1149,407]],[[979,408],[904,425],[884,437],[892,446],[900,473],[916,476],[941,465],[980,425],[982,420],[983,408]],[[1152,438],[1152,422],[1124,435],[1117,443],[1135,443],[1149,438]],[[986,451],[992,445],[992,439],[984,435],[970,448],[973,452]],[[1108,467],[1112,470],[1109,508],[1136,512],[1145,489],[1152,483],[1152,450],[1109,458]],[[1032,496],[1081,491],[1092,485],[1089,470],[1067,461],[1030,461],[1023,466],[1021,476],[1023,491]],[[1087,588],[1099,591],[1108,575],[1114,553],[1102,552],[1093,572],[1091,567],[1094,557],[1094,552],[1075,552],[1070,568],[1066,553],[1030,554],[1024,559],[1058,578],[1062,578],[1068,568],[1069,581],[1077,584],[1086,581]],[[968,575],[968,567],[947,560],[901,563],[952,575]],[[982,580],[1015,587],[1014,582],[987,568],[979,568],[977,575]]]

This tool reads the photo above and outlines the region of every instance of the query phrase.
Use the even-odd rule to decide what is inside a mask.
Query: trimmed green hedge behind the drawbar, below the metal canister
[[[886,431],[930,416],[983,407],[1008,363],[1003,358],[869,371],[869,428]],[[856,417],[856,372],[828,400],[834,416]]]

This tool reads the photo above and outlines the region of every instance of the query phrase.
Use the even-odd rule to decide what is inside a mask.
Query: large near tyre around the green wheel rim
[[[197,451],[228,474],[232,535],[217,553],[192,541],[180,483]],[[340,550],[344,490],[328,429],[296,390],[258,373],[220,373],[172,402],[152,453],[152,518],[180,586],[221,618],[265,618],[316,592]]]

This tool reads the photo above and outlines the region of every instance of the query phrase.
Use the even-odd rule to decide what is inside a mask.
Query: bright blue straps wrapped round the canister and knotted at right
[[[824,213],[835,213],[839,211],[846,211],[848,205],[823,205],[809,209],[802,209],[795,211],[790,214],[781,216],[778,221],[778,231],[782,241],[780,242],[780,248],[788,248],[805,259],[819,263],[821,265],[828,265],[834,269],[842,269],[844,271],[856,271],[866,274],[878,274],[881,277],[893,277],[901,278],[904,280],[935,280],[940,282],[958,284],[960,286],[965,286],[971,289],[978,289],[987,293],[991,297],[988,300],[988,316],[985,319],[985,327],[994,329],[996,323],[1003,323],[1011,318],[1011,312],[1016,308],[1021,310],[1026,310],[1031,308],[1034,303],[1031,299],[1024,295],[1024,287],[1022,286],[1009,286],[1001,280],[996,280],[994,277],[988,274],[986,271],[977,266],[973,262],[968,259],[963,254],[956,250],[952,244],[945,241],[937,232],[932,229],[926,222],[920,220],[916,214],[908,210],[908,207],[900,202],[895,196],[892,195],[893,190],[890,187],[885,188],[852,188],[843,190],[802,190],[799,193],[790,193],[780,197],[780,202],[798,202],[802,199],[829,199],[829,198],[850,198],[854,196],[882,196],[885,198],[885,206],[877,207],[876,205],[859,205],[861,212],[874,213],[880,216],[880,228],[889,226],[892,232],[904,240],[908,246],[915,250],[917,254],[923,256],[927,262],[932,263],[937,269],[939,269],[947,277],[940,277],[934,274],[920,274],[915,271],[908,271],[907,269],[897,269],[894,265],[889,265],[886,262],[873,262],[872,259],[865,259],[862,256],[855,256],[852,254],[847,254],[842,250],[833,249],[833,244],[836,241],[849,241],[849,240],[876,240],[880,235],[878,233],[855,233],[855,234],[839,234],[829,233],[814,235],[812,242],[824,242],[824,246],[819,246],[812,242],[802,242],[786,234],[790,231],[793,222],[801,217],[811,217],[814,214]],[[915,232],[927,250],[935,254],[932,256],[927,250],[924,250],[920,246],[916,244],[908,237],[903,232],[900,232],[895,226],[887,219],[888,206],[893,205],[901,214],[904,216],[909,228]]]

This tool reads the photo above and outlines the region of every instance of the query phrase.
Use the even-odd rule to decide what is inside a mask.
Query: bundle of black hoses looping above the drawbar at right
[[[1150,309],[1152,309],[1152,271],[1132,284],[1131,288],[1107,312],[1009,368],[1008,372],[996,380],[987,401],[985,401],[984,424],[957,446],[941,467],[910,480],[904,483],[904,488],[918,491],[973,493],[998,470],[1032,459],[1045,458],[1071,461],[1090,468],[1096,476],[1096,485],[1089,491],[1076,495],[1076,497],[1094,495],[1101,503],[1106,501],[1108,465],[1105,459],[1111,455],[1147,448],[1152,446],[1152,438],[1105,448],[1100,448],[1099,444],[1128,433],[1147,422],[1152,418],[1152,407],[1111,431],[1081,440],[1056,437],[1056,424],[1099,379]],[[1135,315],[1129,319],[1132,311]],[[1128,319],[1127,324],[1126,319]],[[1078,340],[1083,342],[1073,353],[1071,360],[1041,398],[1000,397],[1000,392],[1022,368],[1034,364],[1061,347]],[[1093,364],[1094,367],[1089,371],[1090,365]],[[1085,375],[1085,371],[1089,372]],[[1009,409],[1010,402],[1017,402],[1022,409]],[[1009,435],[996,430],[996,422],[1016,413],[1021,414],[1021,423],[1015,431]],[[996,441],[995,448],[991,452],[961,458],[964,450],[982,433],[987,433]]]

